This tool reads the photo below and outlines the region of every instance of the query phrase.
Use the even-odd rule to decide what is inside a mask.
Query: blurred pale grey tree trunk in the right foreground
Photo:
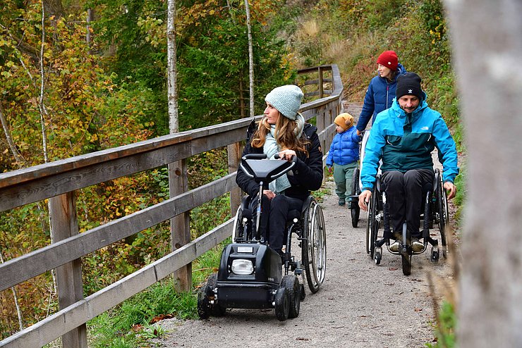
[[[519,347],[522,2],[446,4],[468,149],[459,347]]]

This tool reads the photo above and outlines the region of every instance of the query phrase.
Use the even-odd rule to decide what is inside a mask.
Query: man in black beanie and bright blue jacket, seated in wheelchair
[[[432,151],[437,147],[442,163],[444,189],[448,199],[456,194],[454,179],[459,174],[457,151],[453,137],[440,113],[427,106],[426,94],[415,73],[399,76],[396,99],[391,108],[379,113],[370,131],[360,173],[362,193],[359,206],[368,210],[368,202],[382,159],[382,183],[389,205],[390,227],[396,242],[391,251],[399,249],[404,221],[411,234],[413,251],[421,251],[420,207],[423,186],[434,179]]]

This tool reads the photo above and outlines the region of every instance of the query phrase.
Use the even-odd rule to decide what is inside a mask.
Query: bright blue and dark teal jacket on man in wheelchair
[[[433,168],[432,151],[437,147],[444,182],[453,182],[459,174],[457,151],[444,119],[427,106],[426,94],[413,113],[406,115],[394,99],[391,108],[379,113],[365,147],[360,180],[363,189],[373,189],[375,175],[381,170]]]

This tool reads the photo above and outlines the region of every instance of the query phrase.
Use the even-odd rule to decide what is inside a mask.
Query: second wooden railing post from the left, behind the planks
[[[169,163],[169,194],[176,197],[188,191],[187,162],[185,159]],[[190,213],[171,218],[171,248],[175,251],[190,242]],[[192,288],[192,263],[174,272],[174,288],[188,292]]]

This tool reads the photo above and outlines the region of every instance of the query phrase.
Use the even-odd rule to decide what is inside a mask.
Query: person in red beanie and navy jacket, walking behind
[[[365,129],[370,118],[372,124],[375,122],[377,113],[386,110],[391,106],[391,101],[395,97],[397,77],[406,73],[395,51],[384,51],[377,58],[377,76],[373,77],[366,90],[364,97],[363,110],[360,111],[357,123],[357,135]]]

